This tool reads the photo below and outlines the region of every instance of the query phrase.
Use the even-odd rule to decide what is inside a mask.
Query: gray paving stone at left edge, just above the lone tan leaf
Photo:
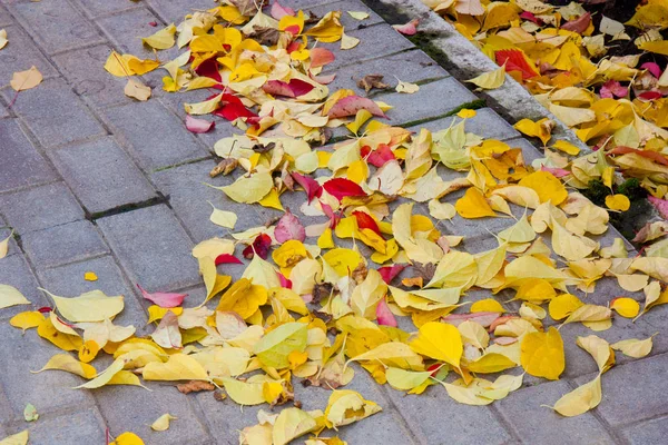
[[[2,48],[2,63],[0,63],[0,88],[9,86],[9,81],[17,71],[26,71],[35,66],[43,77],[58,76],[58,71],[42,56],[32,39],[18,24],[6,28],[9,43]],[[13,97],[14,91],[11,90]],[[11,98],[8,102],[11,101]]]

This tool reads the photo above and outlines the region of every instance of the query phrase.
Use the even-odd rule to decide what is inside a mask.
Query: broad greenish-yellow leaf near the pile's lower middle
[[[306,348],[307,333],[308,326],[303,323],[286,323],[262,337],[253,350],[265,366],[286,368],[289,354]]]

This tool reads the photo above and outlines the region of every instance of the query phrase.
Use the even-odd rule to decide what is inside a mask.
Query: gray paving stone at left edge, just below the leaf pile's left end
[[[62,350],[40,338],[35,329],[21,335],[21,329],[0,323],[0,382],[14,418],[23,417],[28,403],[38,407],[41,415],[59,408],[92,407],[90,393],[72,389],[84,382],[81,377],[59,370],[30,373]]]

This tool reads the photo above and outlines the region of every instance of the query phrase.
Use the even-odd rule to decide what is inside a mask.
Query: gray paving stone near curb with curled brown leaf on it
[[[404,51],[396,55],[385,56],[380,59],[366,60],[361,63],[352,65],[337,69],[336,79],[327,87],[330,91],[338,89],[352,89],[358,95],[365,96],[363,88],[357,87],[357,80],[367,75],[383,75],[383,81],[390,85],[393,91],[397,81],[394,78],[406,82],[419,82],[425,79],[435,79],[449,76],[436,62],[429,58],[421,50]],[[370,95],[374,97],[383,91],[373,89]]]

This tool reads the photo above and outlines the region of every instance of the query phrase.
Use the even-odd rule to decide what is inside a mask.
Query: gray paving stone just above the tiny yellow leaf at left
[[[95,226],[87,220],[31,231],[22,239],[28,256],[39,268],[60,266],[109,251]]]

